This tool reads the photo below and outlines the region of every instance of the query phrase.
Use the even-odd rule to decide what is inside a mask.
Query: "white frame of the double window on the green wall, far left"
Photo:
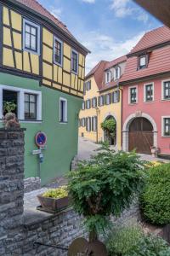
[[[14,86],[0,84],[0,119],[3,119],[3,90],[12,90],[17,92],[17,109],[18,119],[23,123],[37,123],[42,122],[42,92],[39,90],[28,90],[17,88]],[[37,96],[37,119],[25,120],[25,93],[34,94]]]

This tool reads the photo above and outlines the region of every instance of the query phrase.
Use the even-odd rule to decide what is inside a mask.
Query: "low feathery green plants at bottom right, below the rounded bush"
[[[138,225],[116,227],[107,241],[110,256],[169,256],[170,249],[161,237],[144,235]],[[167,254],[165,254],[167,253]]]

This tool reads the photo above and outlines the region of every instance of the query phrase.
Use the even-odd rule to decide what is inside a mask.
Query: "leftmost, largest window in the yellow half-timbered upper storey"
[[[24,20],[23,49],[40,54],[40,26]]]

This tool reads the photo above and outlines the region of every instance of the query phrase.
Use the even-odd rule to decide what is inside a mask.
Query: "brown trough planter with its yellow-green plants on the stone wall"
[[[57,212],[69,205],[69,197],[66,186],[57,189],[48,189],[41,195],[37,195],[37,199],[44,211]]]

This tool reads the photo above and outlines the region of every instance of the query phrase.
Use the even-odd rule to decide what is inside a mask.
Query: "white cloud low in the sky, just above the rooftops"
[[[114,38],[99,34],[99,32],[84,34],[82,36],[82,44],[91,51],[91,54],[86,59],[86,74],[101,60],[112,61],[122,55],[126,55],[143,35],[144,32],[140,32],[125,42],[116,42]]]

